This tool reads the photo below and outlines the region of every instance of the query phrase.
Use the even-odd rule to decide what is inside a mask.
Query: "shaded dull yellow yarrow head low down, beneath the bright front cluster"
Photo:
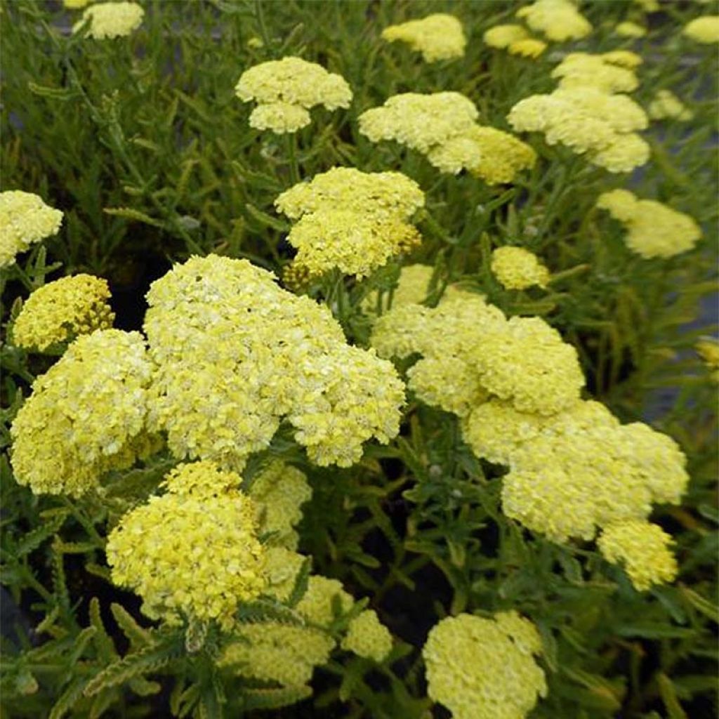
[[[219,656],[219,667],[283,687],[304,687],[334,649],[334,639],[324,631],[277,622],[239,624],[232,636]],[[306,690],[311,695],[310,687]]]

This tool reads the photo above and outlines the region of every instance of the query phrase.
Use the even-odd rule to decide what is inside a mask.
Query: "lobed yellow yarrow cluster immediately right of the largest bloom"
[[[384,357],[420,353],[408,386],[459,417],[492,396],[520,411],[553,414],[574,403],[584,384],[576,351],[544,320],[505,319],[482,297],[457,290],[434,309],[390,310],[371,342]]]

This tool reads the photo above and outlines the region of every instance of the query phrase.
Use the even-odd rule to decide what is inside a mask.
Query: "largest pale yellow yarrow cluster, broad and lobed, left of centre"
[[[176,457],[240,471],[285,417],[311,461],[349,467],[399,429],[390,362],[349,347],[329,309],[247,260],[192,257],[152,284],[148,421]]]

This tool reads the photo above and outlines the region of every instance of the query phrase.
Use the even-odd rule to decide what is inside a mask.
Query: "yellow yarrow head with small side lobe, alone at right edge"
[[[654,200],[639,200],[628,190],[601,194],[597,207],[624,224],[627,247],[641,257],[674,257],[692,249],[702,236],[695,220]]]

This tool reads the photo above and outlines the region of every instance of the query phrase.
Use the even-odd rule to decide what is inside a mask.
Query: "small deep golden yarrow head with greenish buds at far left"
[[[43,285],[22,306],[12,328],[18,347],[39,349],[69,342],[96,329],[109,329],[115,318],[107,301],[107,281],[74,275]]]

